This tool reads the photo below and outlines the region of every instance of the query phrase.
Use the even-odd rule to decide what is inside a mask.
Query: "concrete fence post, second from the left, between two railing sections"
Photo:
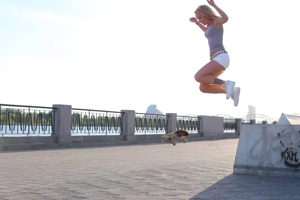
[[[121,110],[123,114],[123,134],[126,140],[135,140],[135,110]]]

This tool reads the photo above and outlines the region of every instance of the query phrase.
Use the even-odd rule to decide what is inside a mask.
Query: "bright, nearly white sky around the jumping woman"
[[[274,119],[300,113],[298,0],[214,0],[229,17],[219,76],[239,104],[201,93],[209,61],[204,32],[189,21],[206,0],[0,0],[0,103],[241,118],[248,105]],[[288,3],[286,3],[288,2]]]

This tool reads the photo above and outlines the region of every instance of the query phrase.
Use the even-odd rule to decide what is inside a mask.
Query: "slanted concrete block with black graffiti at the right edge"
[[[243,124],[233,173],[300,177],[300,125]]]

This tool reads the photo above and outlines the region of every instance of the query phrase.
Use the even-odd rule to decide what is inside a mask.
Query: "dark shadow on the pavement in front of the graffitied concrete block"
[[[300,178],[232,173],[191,199],[300,199]]]

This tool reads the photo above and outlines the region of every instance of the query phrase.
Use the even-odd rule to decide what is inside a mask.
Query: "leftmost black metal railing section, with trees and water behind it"
[[[56,107],[0,104],[0,136],[54,134]]]

